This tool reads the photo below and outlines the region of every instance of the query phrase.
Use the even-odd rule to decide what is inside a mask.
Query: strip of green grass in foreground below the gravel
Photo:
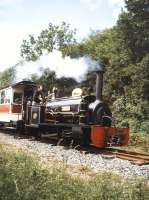
[[[81,179],[66,168],[47,170],[25,153],[0,149],[0,200],[147,200],[147,180],[124,181],[109,173]]]

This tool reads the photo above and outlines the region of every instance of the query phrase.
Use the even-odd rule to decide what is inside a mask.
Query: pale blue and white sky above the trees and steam
[[[79,39],[112,27],[123,0],[0,0],[0,71],[20,60],[20,45],[49,22],[70,23]]]

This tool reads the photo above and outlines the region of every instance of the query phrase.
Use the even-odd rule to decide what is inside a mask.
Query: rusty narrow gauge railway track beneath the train
[[[133,164],[136,165],[148,165],[149,164],[149,154],[144,154],[144,153],[139,153],[139,152],[133,152],[129,150],[122,150],[120,148],[104,148],[104,149],[99,149],[94,146],[80,146],[79,144],[73,143],[71,138],[65,138],[65,139],[57,139],[57,137],[52,136],[52,137],[41,137],[37,138],[34,137],[33,135],[24,135],[24,134],[16,134],[13,130],[3,130],[0,129],[2,132],[5,132],[7,134],[14,135],[15,137],[18,138],[23,138],[23,139],[31,139],[31,140],[37,140],[42,143],[50,143],[52,145],[62,145],[66,149],[76,149],[80,151],[83,154],[100,154],[103,158],[105,159],[114,159],[114,158],[120,158],[123,160],[129,160]]]

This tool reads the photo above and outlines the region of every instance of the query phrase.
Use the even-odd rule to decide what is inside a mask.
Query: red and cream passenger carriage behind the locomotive
[[[0,89],[0,124],[17,125],[25,119],[26,103],[36,88],[31,81],[21,81]]]

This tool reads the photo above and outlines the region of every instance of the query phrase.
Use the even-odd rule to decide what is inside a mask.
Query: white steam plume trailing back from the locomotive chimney
[[[42,75],[41,68],[55,71],[58,78],[65,76],[79,81],[88,70],[100,69],[100,66],[89,57],[72,59],[69,56],[63,57],[60,51],[54,50],[48,54],[44,53],[36,62],[20,62],[16,67],[16,80],[30,78],[32,74],[40,76]]]

